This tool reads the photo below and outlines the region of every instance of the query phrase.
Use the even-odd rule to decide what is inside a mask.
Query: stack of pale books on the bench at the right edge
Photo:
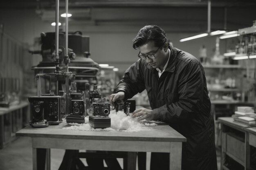
[[[252,107],[238,107],[235,114],[232,115],[235,121],[246,124],[248,126],[256,126],[256,114]]]

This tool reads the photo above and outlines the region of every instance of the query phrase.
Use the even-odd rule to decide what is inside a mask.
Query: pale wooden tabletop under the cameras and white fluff
[[[76,138],[76,139],[95,139],[95,140],[128,140],[128,141],[182,141],[186,138],[176,130],[166,124],[159,126],[147,126],[150,130],[139,132],[123,131],[83,131],[67,130],[63,127],[70,125],[64,122],[57,126],[48,126],[46,128],[32,128],[27,126],[18,132],[17,136],[26,137],[52,137],[52,138]]]

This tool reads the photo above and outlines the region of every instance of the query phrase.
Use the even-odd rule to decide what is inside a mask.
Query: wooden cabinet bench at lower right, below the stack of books
[[[222,132],[220,169],[232,170],[235,166],[236,169],[249,170],[250,147],[247,130],[250,129],[250,125],[234,121],[233,117],[219,117],[218,121],[221,124]],[[227,162],[225,162],[228,160],[227,157],[230,157],[238,164],[234,166],[230,164],[232,168],[228,168],[225,165],[227,164]]]

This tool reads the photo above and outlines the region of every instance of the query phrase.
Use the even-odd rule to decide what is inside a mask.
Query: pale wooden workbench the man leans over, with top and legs
[[[106,150],[126,152],[169,152],[170,170],[181,170],[182,142],[186,138],[168,125],[149,126],[150,130],[139,132],[122,131],[80,131],[64,130],[70,126],[61,123],[47,128],[27,126],[17,136],[32,138],[33,170],[36,170],[37,148],[74,149],[74,150]],[[47,154],[49,160],[50,154]],[[49,161],[48,161],[49,162]],[[129,165],[129,159],[128,159]],[[46,166],[50,169],[49,163]],[[128,167],[135,169],[135,166]]]

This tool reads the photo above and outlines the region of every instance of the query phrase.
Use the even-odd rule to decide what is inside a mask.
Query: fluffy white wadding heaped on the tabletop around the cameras
[[[77,124],[72,123],[69,125],[72,125],[70,127],[64,127],[63,129],[69,129],[69,130],[90,130],[90,131],[110,131],[110,130],[117,130],[117,131],[124,131],[124,132],[139,132],[141,130],[150,130],[150,128],[146,127],[143,122],[137,121],[137,118],[132,118],[130,115],[126,116],[126,114],[123,111],[118,111],[116,113],[115,110],[110,111],[109,115],[111,119],[111,128],[98,128],[94,129],[92,128],[88,122],[89,118],[85,117],[85,123],[84,124]],[[66,123],[65,120],[63,120],[63,123]],[[153,123],[154,124],[154,123]],[[149,126],[156,126],[156,125],[149,125]]]

